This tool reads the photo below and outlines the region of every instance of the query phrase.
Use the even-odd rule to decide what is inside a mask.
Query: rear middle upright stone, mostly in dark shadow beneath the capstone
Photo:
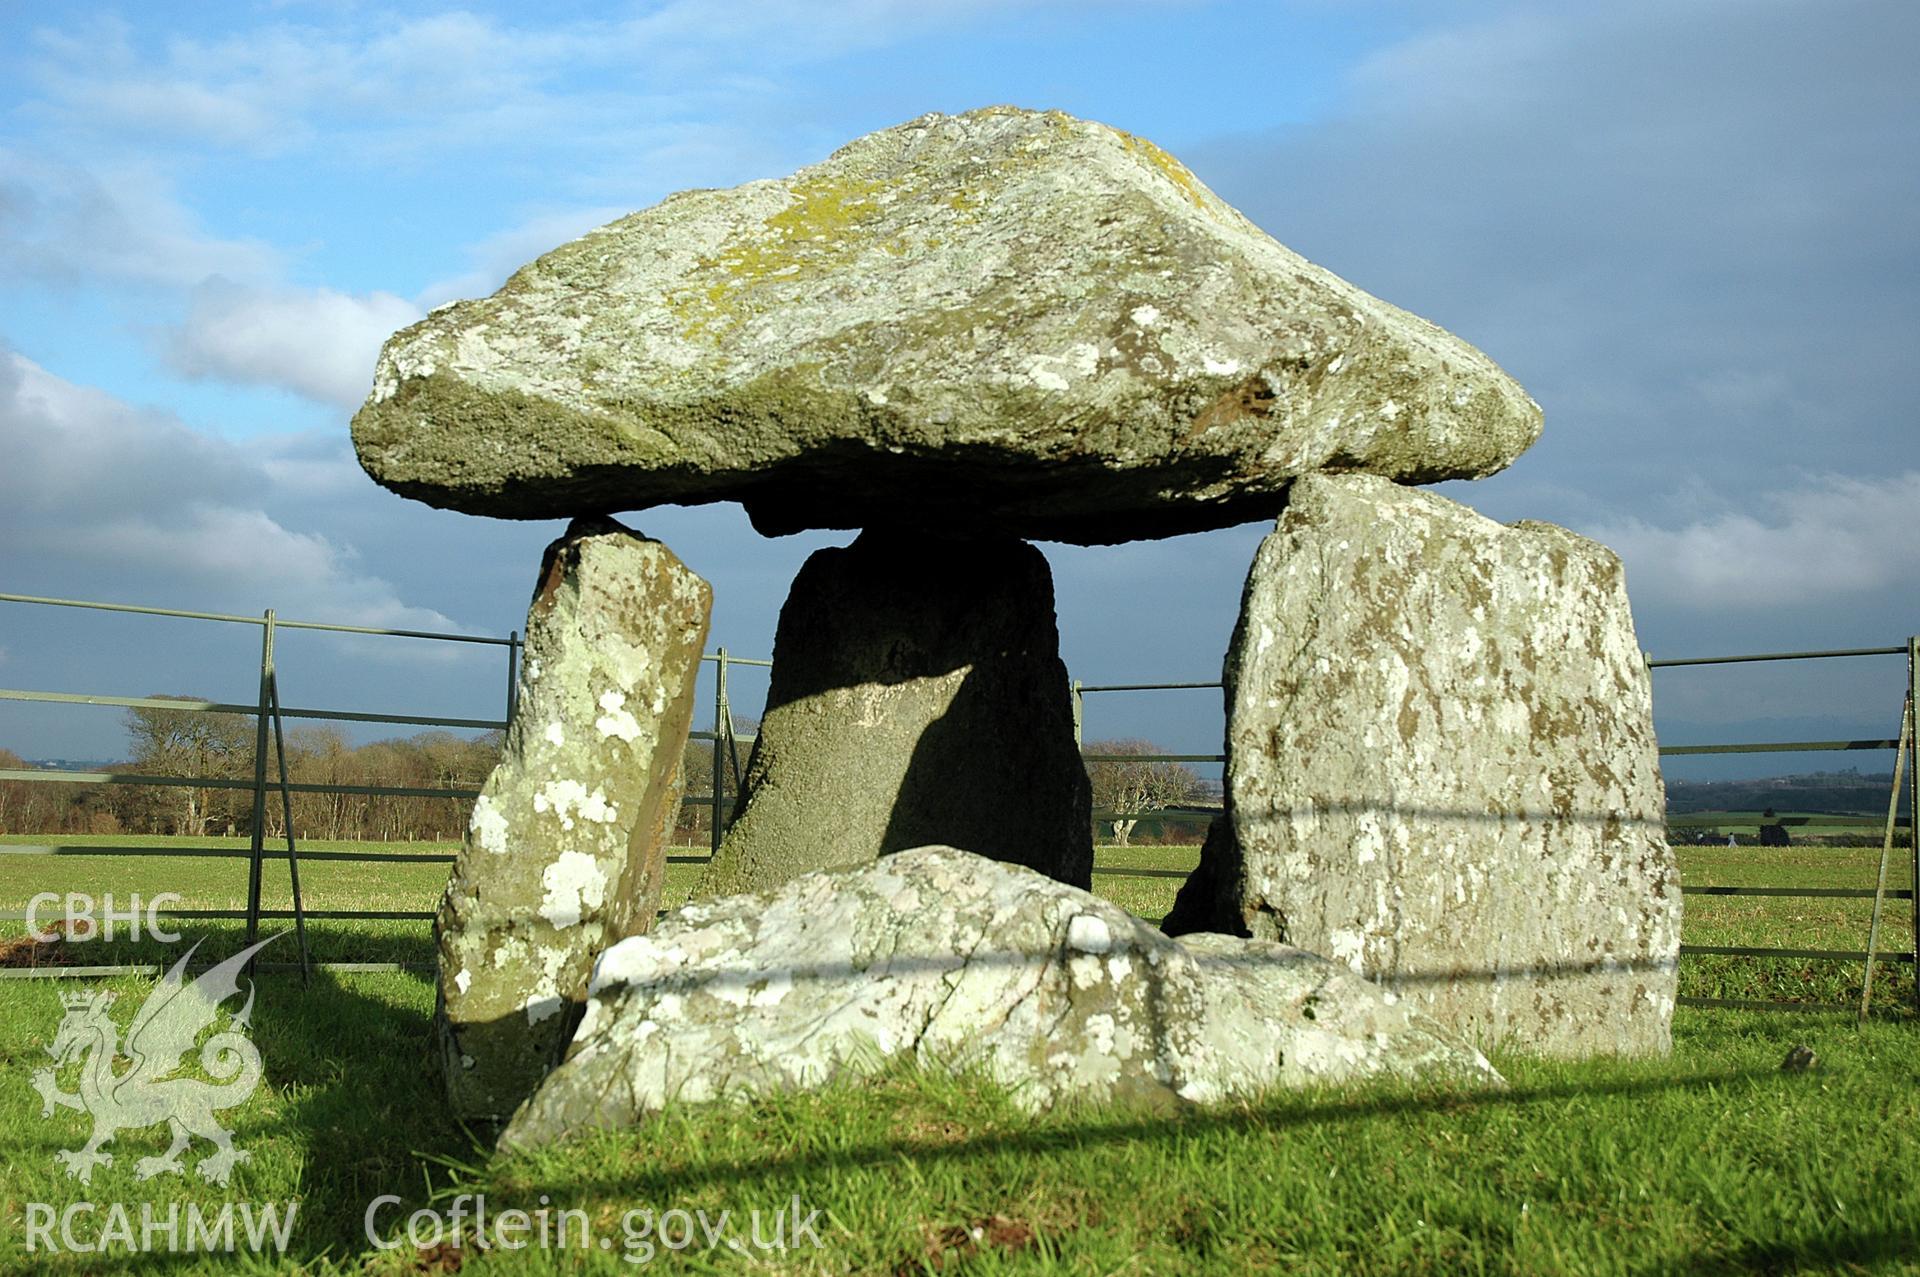
[[[739,818],[701,893],[929,843],[1092,881],[1054,578],[1014,538],[872,528],[793,580]]]

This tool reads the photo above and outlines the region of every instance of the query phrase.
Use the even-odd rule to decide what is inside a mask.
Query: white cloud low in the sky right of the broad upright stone
[[[1747,509],[1659,526],[1626,518],[1586,528],[1626,561],[1634,601],[1755,613],[1868,601],[1920,580],[1920,470],[1887,478],[1811,476],[1757,492]]]

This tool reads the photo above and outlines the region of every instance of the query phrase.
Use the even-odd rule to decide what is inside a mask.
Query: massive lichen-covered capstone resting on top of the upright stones
[[[1538,432],[1486,355],[1150,142],[1014,108],[564,244],[396,334],[353,421],[378,482],[476,515],[1064,542],[1271,517],[1317,469],[1490,474]]]

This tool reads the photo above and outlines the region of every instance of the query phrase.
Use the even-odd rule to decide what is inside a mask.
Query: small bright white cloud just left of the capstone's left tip
[[[372,386],[380,344],[422,311],[390,292],[242,288],[209,280],[169,330],[165,357],[186,376],[284,386],[355,407]]]

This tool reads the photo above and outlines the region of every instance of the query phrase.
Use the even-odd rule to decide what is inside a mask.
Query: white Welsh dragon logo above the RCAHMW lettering
[[[213,1144],[213,1152],[194,1168],[207,1183],[225,1185],[234,1166],[252,1156],[234,1148],[232,1133],[213,1120],[217,1110],[232,1108],[253,1095],[261,1079],[259,1048],[246,1037],[248,1018],[253,1012],[252,987],[246,1004],[227,1027],[200,1047],[200,1066],[215,1081],[171,1073],[180,1070],[194,1041],[217,1024],[221,1002],[240,993],[240,970],[248,958],[275,939],[278,937],[269,935],[188,981],[186,962],[194,956],[194,949],[200,949],[196,941],[140,1004],[127,1029],[125,1047],[119,1025],[108,1016],[113,1004],[111,993],[61,995],[67,1014],[54,1033],[54,1045],[48,1047],[54,1064],[35,1072],[33,1089],[40,1093],[42,1118],[52,1118],[58,1106],[79,1108],[94,1120],[94,1133],[84,1148],[63,1148],[54,1154],[67,1168],[67,1175],[88,1183],[96,1166],[113,1162],[113,1154],[102,1152],[102,1146],[115,1133],[161,1121],[173,1129],[173,1144],[167,1152],[134,1164],[140,1179],[182,1171],[180,1154],[196,1135]],[[60,1089],[58,1072],[83,1056],[81,1089],[69,1095]],[[115,1064],[123,1058],[131,1060],[131,1066],[115,1072]]]

